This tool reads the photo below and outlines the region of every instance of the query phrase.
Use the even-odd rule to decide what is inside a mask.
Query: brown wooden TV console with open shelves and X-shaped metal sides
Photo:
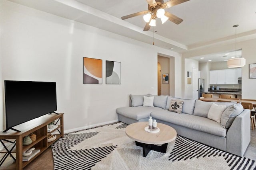
[[[16,170],[22,170],[22,168],[24,168],[38,155],[40,155],[44,150],[50,147],[52,143],[54,143],[60,137],[63,137],[63,114],[64,113],[47,114],[15,126],[14,128],[19,130],[20,132],[16,132],[13,130],[8,130],[7,132],[0,132],[1,143],[4,143],[4,145],[6,145],[12,142],[12,147],[16,145],[16,149],[14,148],[13,150],[11,150],[12,147],[6,147],[8,150],[1,151],[2,153],[5,153],[4,157],[1,160],[1,163],[4,162],[5,157],[7,158],[10,155],[14,160],[16,159]],[[53,131],[47,132],[47,126],[52,121],[55,121],[56,125],[58,125],[58,128],[54,129]],[[52,142],[47,142],[48,135],[50,135],[53,132],[54,135],[56,135],[56,139]],[[32,142],[30,145],[23,146],[22,141],[24,137],[30,135],[31,133],[36,134],[36,141]],[[22,152],[32,147],[34,147],[35,149],[40,149],[40,152],[37,153],[34,157],[32,157],[29,161],[22,161]],[[16,158],[15,156],[12,155],[12,153],[16,153]]]

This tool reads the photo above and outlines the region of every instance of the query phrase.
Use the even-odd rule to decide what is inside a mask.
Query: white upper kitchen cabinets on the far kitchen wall
[[[225,70],[210,70],[210,84],[238,84],[238,77],[242,77],[242,68]]]

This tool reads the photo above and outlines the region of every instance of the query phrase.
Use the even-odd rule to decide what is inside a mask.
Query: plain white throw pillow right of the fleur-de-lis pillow
[[[207,118],[220,123],[221,115],[225,109],[226,109],[225,105],[217,105],[213,103],[208,111]]]

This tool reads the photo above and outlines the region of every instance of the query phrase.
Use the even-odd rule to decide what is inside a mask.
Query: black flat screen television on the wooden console
[[[56,82],[4,81],[6,130],[57,110]]]

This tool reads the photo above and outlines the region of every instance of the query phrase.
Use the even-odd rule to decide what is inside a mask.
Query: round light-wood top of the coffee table
[[[162,123],[157,123],[157,127],[160,129],[160,132],[158,133],[146,132],[144,130],[146,126],[148,126],[148,122],[132,123],[126,127],[125,133],[134,141],[146,144],[169,143],[174,141],[177,136],[175,129]]]

